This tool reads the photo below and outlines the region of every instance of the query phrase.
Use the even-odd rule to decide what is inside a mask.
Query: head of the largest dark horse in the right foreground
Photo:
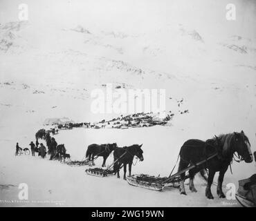
[[[246,163],[253,162],[253,153],[250,150],[250,142],[248,137],[244,134],[244,131],[241,131],[241,133],[234,132],[234,147],[239,157],[241,156],[241,160],[244,160]]]

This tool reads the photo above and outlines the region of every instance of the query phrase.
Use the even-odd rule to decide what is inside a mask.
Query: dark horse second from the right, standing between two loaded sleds
[[[140,161],[144,160],[143,150],[141,149],[141,146],[143,146],[143,144],[134,144],[132,146],[124,146],[122,148],[118,147],[115,149],[115,151],[113,151],[113,173],[118,173],[118,178],[120,178],[119,171],[121,169],[122,164],[124,166],[123,179],[126,180],[126,166],[127,164],[129,165],[129,176],[131,176],[131,165],[134,160],[134,156],[136,155],[136,157],[138,157]]]

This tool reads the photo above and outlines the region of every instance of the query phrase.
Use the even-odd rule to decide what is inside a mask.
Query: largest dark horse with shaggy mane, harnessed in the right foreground
[[[213,182],[214,175],[219,171],[218,185],[217,185],[217,195],[219,198],[226,198],[225,194],[222,191],[222,183],[224,175],[230,166],[232,159],[235,160],[235,152],[237,152],[239,157],[239,162],[244,160],[246,163],[253,162],[253,154],[250,151],[250,142],[248,137],[244,134],[244,131],[241,133],[228,133],[215,136],[212,139],[206,140],[187,140],[179,153],[180,162],[179,162],[179,171],[187,168],[190,165],[196,164],[201,160],[206,160],[214,153],[217,153],[215,157],[212,157],[207,162],[196,166],[194,169],[190,169],[190,191],[196,192],[194,188],[194,175],[199,171],[203,175],[205,169],[208,169],[209,175],[207,178],[207,186],[205,189],[205,196],[208,199],[213,199],[211,192],[211,185]],[[230,166],[231,168],[231,166]],[[185,193],[185,173],[181,173],[181,182],[180,182],[180,193],[186,195]]]

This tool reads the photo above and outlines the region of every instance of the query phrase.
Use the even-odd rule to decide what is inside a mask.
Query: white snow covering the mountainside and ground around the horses
[[[15,144],[28,146],[45,119],[118,117],[91,112],[91,91],[112,84],[165,89],[166,111],[175,113],[172,126],[61,131],[57,142],[66,144],[73,159],[82,159],[91,143],[143,144],[145,161],[134,173],[168,175],[185,140],[241,130],[255,151],[255,3],[234,1],[237,20],[227,21],[229,2],[221,0],[27,2],[28,21],[17,19],[19,1],[0,2],[0,184],[7,185],[0,186],[0,200],[16,198],[17,185],[26,182],[31,200],[66,200],[66,206],[223,205],[216,195],[204,198],[199,177],[199,193],[154,193],[116,177],[88,177],[84,168],[15,157]],[[235,163],[224,182],[237,184],[252,173],[254,163]],[[124,190],[127,196],[120,195]]]

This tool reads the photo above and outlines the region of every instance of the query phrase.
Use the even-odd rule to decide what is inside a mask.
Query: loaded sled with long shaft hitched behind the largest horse
[[[180,175],[182,173],[185,173],[187,171],[190,171],[196,166],[199,166],[211,158],[217,156],[218,153],[214,153],[214,155],[211,155],[210,157],[206,158],[205,160],[202,160],[201,162],[198,162],[196,164],[193,164],[192,166],[188,166],[188,168],[183,169],[182,171],[179,171],[178,173],[175,173],[172,175],[170,174],[169,177],[154,177],[150,175],[145,175],[145,174],[140,174],[140,175],[131,175],[127,177],[127,182],[128,184],[132,186],[138,186],[142,187],[145,189],[150,189],[154,191],[162,191],[165,187],[167,186],[172,186],[172,187],[179,187],[181,182],[181,177]],[[188,179],[189,175],[185,175],[185,180]]]

